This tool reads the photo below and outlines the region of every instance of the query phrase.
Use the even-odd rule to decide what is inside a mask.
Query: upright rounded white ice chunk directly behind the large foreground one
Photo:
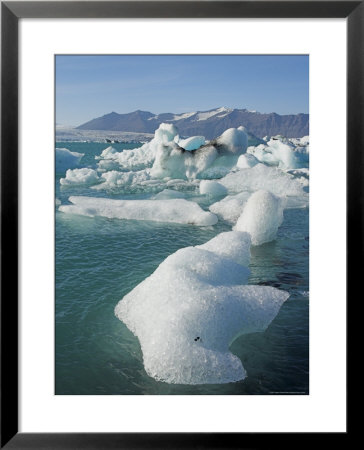
[[[250,234],[253,245],[273,241],[283,222],[283,202],[268,191],[257,191],[247,201],[234,230]]]

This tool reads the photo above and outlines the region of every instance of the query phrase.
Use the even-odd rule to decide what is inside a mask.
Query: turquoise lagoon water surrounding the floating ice
[[[92,168],[95,155],[108,145],[57,143],[85,153],[81,166]],[[135,144],[113,147],[120,151]],[[60,188],[62,176],[56,174],[56,197],[62,203],[70,195],[150,195]],[[222,222],[195,227],[88,218],[56,209],[56,394],[308,394],[308,213],[286,210],[277,240],[252,248],[249,283],[284,289],[290,298],[266,332],[233,342],[231,351],[248,377],[237,383],[185,386],[157,382],[145,373],[139,341],[114,316],[114,308],[171,253],[231,228]]]

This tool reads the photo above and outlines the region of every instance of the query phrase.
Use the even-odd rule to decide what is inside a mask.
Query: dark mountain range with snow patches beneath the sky
[[[202,135],[207,139],[216,138],[227,128],[241,125],[258,137],[282,134],[298,138],[309,134],[308,114],[279,115],[225,107],[182,114],[153,114],[140,110],[127,114],[111,112],[77,129],[154,133],[162,122],[175,124],[182,136]]]

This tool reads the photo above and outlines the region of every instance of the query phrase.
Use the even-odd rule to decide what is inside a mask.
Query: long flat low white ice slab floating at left
[[[102,216],[109,219],[152,220],[198,226],[217,223],[215,214],[204,211],[197,203],[184,199],[173,200],[111,200],[96,197],[70,197],[72,205],[59,210],[83,216]]]

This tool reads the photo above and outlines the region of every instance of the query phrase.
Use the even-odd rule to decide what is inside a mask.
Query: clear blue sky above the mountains
[[[56,56],[56,122],[220,106],[308,113],[307,55]]]

